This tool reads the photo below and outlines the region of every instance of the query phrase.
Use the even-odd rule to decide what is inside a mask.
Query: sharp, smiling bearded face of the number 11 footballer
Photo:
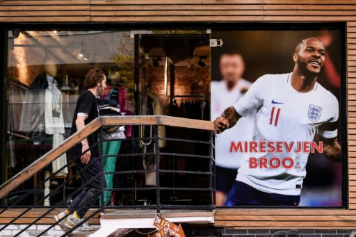
[[[296,52],[298,67],[305,74],[320,74],[325,65],[325,47],[318,38],[308,38]]]

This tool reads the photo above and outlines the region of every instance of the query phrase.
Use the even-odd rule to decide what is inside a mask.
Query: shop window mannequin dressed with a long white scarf
[[[61,81],[55,76],[57,66],[53,60],[44,60],[44,72],[33,80],[25,95],[19,130],[31,134],[33,146],[51,140],[52,147],[57,147],[64,140],[63,95],[60,91]],[[46,139],[47,138],[47,139]],[[39,158],[47,151],[38,149]],[[65,154],[52,162],[52,172],[67,164]],[[56,176],[66,176],[67,167]]]

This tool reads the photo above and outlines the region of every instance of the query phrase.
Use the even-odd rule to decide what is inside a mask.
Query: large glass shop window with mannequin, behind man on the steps
[[[121,111],[133,114],[134,39],[130,32],[9,31],[8,35],[8,160],[1,172],[3,181],[70,136],[76,99],[91,68],[106,73]],[[10,193],[8,204],[36,187],[46,172],[56,172],[67,159],[63,154]],[[68,177],[71,169],[58,172],[51,188]],[[43,189],[39,186],[38,194]],[[31,204],[34,196],[22,204]]]

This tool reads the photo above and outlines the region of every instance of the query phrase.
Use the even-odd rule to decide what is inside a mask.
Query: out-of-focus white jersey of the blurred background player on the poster
[[[233,106],[238,99],[243,97],[241,90],[250,88],[250,81],[238,80],[232,90],[227,90],[224,80],[211,81],[211,121],[221,116],[223,111],[229,106]],[[237,126],[218,134],[215,138],[215,158],[216,165],[229,169],[238,169],[241,158],[246,154],[236,154],[229,152],[230,143],[235,140],[250,141],[254,134],[256,113],[252,112],[238,121]]]

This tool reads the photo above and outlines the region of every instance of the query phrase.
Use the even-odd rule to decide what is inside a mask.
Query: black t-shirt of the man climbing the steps
[[[78,113],[87,113],[88,117],[84,121],[85,124],[88,124],[92,122],[92,120],[95,120],[96,117],[98,117],[98,110],[97,110],[97,99],[95,96],[90,92],[89,90],[85,90],[83,93],[78,98],[78,101],[76,101],[76,107],[74,111],[74,116],[73,116],[73,122],[72,122],[72,131],[71,135],[76,133],[76,118],[78,117]],[[88,144],[89,147],[95,144],[97,142],[97,132],[92,133],[90,136],[88,136]],[[91,157],[98,157],[99,156],[99,149],[97,146],[94,146],[90,148],[91,152]],[[78,145],[74,146],[70,150],[70,155],[71,158],[77,158],[81,155],[81,143]]]

